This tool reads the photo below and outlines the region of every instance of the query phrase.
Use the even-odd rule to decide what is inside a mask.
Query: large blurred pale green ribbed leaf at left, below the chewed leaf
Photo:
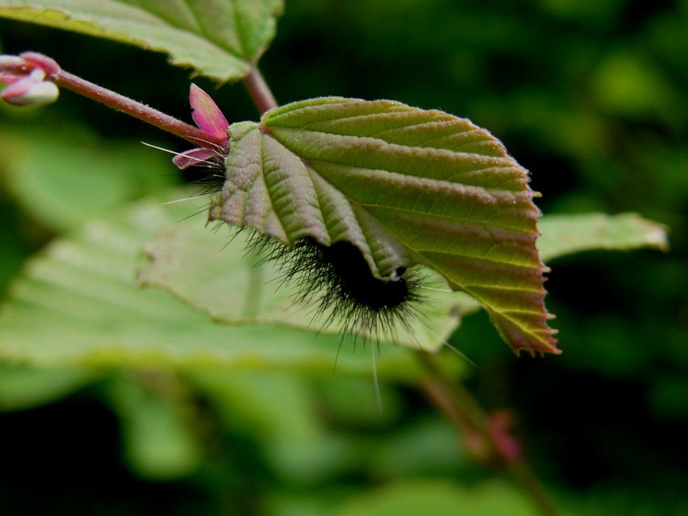
[[[189,204],[141,202],[47,246],[10,285],[0,312],[0,358],[51,367],[210,365],[324,374],[332,374],[336,363],[338,374],[369,375],[369,349],[337,334],[318,334],[316,327],[292,325],[290,313],[279,320],[214,324],[167,292],[141,289],[136,274],[145,264],[144,243],[166,230],[200,228],[199,219],[178,222],[193,211]],[[228,277],[239,278],[228,285],[228,303],[241,307],[253,285],[233,264],[240,263],[246,277],[251,265],[235,256],[244,254],[241,242],[235,239],[223,249],[226,240],[215,235],[211,254],[226,261]],[[193,267],[203,268],[205,257],[201,252]],[[259,295],[267,299],[276,287],[264,286]],[[380,378],[412,380],[423,374],[407,350],[389,346],[380,354]]]

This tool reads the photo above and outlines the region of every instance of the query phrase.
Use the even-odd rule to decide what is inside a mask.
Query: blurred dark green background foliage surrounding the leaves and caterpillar
[[[0,45],[189,119],[189,74],[160,54],[4,20]],[[279,103],[391,98],[471,118],[532,171],[545,213],[636,211],[669,226],[666,255],[550,264],[561,356],[515,359],[484,314],[452,339],[477,365],[466,385],[513,410],[526,459],[570,514],[688,515],[687,56],[685,0],[291,0],[261,60]],[[195,82],[228,120],[256,118],[241,85]],[[184,144],[68,93],[0,117],[2,289],[85,214],[195,178],[138,142]],[[21,166],[53,167],[48,184],[17,173],[14,154],[36,141]],[[70,176],[76,159],[92,175]],[[88,195],[61,206],[61,189]],[[400,514],[384,504],[403,493],[411,514],[420,490],[469,515],[530,513],[416,391],[382,388],[378,413],[370,378],[336,373],[0,365],[0,512]],[[423,510],[444,514],[438,503]]]

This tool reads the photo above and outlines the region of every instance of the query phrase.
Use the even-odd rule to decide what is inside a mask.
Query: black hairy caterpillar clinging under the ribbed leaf
[[[424,297],[415,268],[400,266],[389,279],[380,279],[350,241],[325,246],[306,237],[286,246],[255,232],[250,241],[260,263],[277,266],[282,283],[295,286],[297,301],[317,304],[315,318],[323,318],[323,327],[340,321],[343,334],[380,341],[394,339],[398,324],[410,331],[419,316]]]

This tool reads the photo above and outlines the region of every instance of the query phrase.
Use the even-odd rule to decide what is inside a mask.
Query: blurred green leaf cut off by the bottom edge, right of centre
[[[496,482],[472,488],[446,480],[392,484],[352,497],[330,516],[536,516],[523,495]]]

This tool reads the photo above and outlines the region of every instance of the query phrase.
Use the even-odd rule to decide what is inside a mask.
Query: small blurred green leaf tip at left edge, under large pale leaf
[[[93,377],[83,369],[36,369],[0,363],[0,411],[32,409],[59,400]]]

